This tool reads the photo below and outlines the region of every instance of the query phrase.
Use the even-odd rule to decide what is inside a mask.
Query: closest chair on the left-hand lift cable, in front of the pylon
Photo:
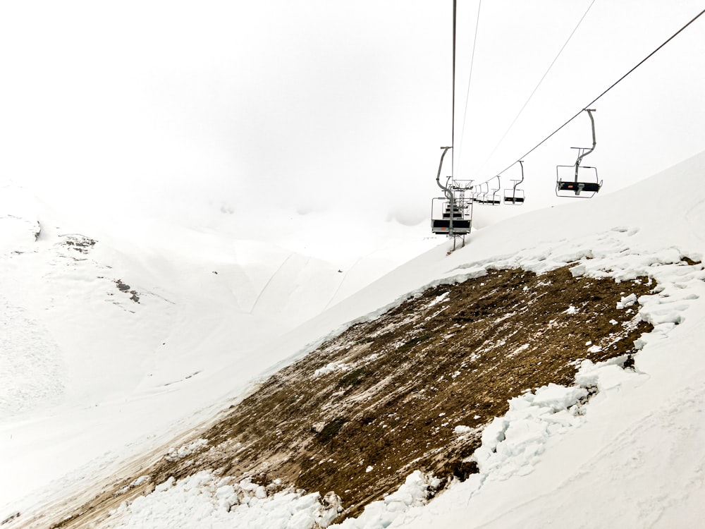
[[[431,232],[453,238],[465,237],[472,226],[472,197],[465,196],[472,190],[472,181],[456,181],[449,176],[445,186],[441,183],[443,157],[451,148],[441,147],[443,154],[436,183],[443,190],[443,196],[431,200]]]

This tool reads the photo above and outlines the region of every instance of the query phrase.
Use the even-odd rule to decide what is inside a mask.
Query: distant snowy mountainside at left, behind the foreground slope
[[[255,345],[384,271],[156,221],[94,227],[17,186],[0,200],[3,510],[171,437],[231,391]]]

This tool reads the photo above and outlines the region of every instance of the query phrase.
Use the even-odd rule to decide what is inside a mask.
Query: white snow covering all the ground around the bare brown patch
[[[213,247],[209,260],[195,245],[170,259],[161,248],[128,248],[124,239],[124,246],[108,245],[107,236],[84,233],[100,242],[76,255],[59,245],[63,231],[52,224],[42,222],[35,243],[31,212],[3,217],[0,303],[11,331],[0,360],[0,457],[8,469],[0,518],[59,497],[61,487],[85,487],[138,449],[161,446],[169,432],[225,407],[253,379],[427,286],[481,276],[486,267],[541,273],[570,264],[576,276],[658,282],[656,293],[638,300],[625,283],[619,305],[654,324],[637,342],[635,369],[586,360],[574,386],[523,392],[482,433],[479,473],[431,501],[434,478],[414,473],[341,526],[697,527],[705,516],[705,271],[682,257],[705,254],[705,197],[697,193],[704,175],[705,152],[618,193],[499,222],[472,233],[465,248],[446,255],[443,243],[298,321],[276,311],[279,319],[270,318],[264,307],[253,313],[271,269],[258,275],[257,267],[228,267]],[[287,259],[263,250],[274,269]],[[144,302],[130,301],[116,279]],[[265,296],[269,306],[296,299],[285,283]],[[262,330],[248,333],[255,325]],[[24,368],[36,374],[6,375]],[[36,379],[54,382],[32,385]],[[177,455],[179,446],[189,449],[170,446]],[[247,496],[238,492],[247,484],[221,479],[202,472],[170,480],[123,504],[106,526],[308,529],[326,525],[335,504],[321,502],[327,491]]]

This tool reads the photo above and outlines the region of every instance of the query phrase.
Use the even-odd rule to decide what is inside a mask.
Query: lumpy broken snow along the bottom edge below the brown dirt
[[[232,482],[201,471],[176,482],[158,485],[147,497],[123,502],[111,512],[106,527],[311,529],[331,527],[361,529],[387,527],[412,506],[427,503],[441,485],[439,478],[415,470],[396,492],[367,506],[359,518],[332,523],[341,511],[340,498],[330,492],[283,490],[271,492],[246,479]],[[274,484],[276,488],[276,484]],[[157,524],[157,525],[155,525]]]

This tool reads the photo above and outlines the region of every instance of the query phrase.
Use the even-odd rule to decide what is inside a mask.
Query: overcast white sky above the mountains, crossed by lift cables
[[[457,176],[484,181],[504,169],[703,8],[594,1],[490,157],[591,3],[485,1],[463,127],[478,4],[458,1]],[[451,8],[3,2],[0,178],[41,185],[72,207],[267,203],[424,221],[439,194],[439,147],[450,142]],[[705,16],[594,105],[598,147],[585,162],[599,168],[603,193],[705,149],[704,49]],[[589,144],[584,115],[525,159],[527,207],[551,203],[556,164]]]

